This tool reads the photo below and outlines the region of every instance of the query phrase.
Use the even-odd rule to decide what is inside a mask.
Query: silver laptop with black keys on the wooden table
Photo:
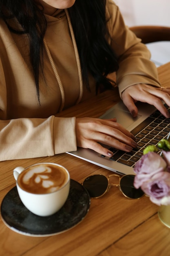
[[[168,109],[168,106],[166,107]],[[113,157],[107,157],[85,148],[77,148],[77,151],[67,153],[121,175],[134,174],[133,168],[143,155],[143,149],[149,144],[156,145],[162,138],[167,138],[170,132],[170,119],[163,117],[154,106],[138,102],[137,108],[138,115],[133,118],[124,103],[120,101],[99,117],[101,119],[116,117],[118,123],[135,135],[139,147],[133,149],[132,152],[126,153],[105,145],[113,151]]]

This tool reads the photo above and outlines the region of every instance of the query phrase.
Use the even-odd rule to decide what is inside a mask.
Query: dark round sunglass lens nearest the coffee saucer
[[[97,198],[106,192],[108,179],[104,175],[92,175],[84,180],[83,186],[88,191],[91,198]]]

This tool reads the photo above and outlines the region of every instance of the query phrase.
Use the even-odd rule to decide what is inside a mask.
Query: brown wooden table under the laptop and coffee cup
[[[158,68],[163,86],[169,85],[169,70],[170,63]],[[60,115],[98,117],[118,100],[115,89],[113,93],[99,94]],[[92,173],[110,174],[104,168],[66,153],[0,162],[0,202],[15,186],[13,168],[38,162],[62,164],[78,182]],[[24,236],[9,229],[0,218],[0,256],[168,256],[170,229],[160,222],[157,210],[158,206],[148,197],[130,200],[117,187],[112,187],[103,197],[91,200],[90,210],[79,225],[55,236]]]

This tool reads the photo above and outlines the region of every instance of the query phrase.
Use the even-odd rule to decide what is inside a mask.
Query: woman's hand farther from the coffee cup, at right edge
[[[133,117],[136,117],[138,113],[135,102],[141,101],[155,106],[162,115],[170,118],[170,113],[162,103],[164,101],[170,106],[170,88],[155,88],[151,85],[135,84],[122,92],[122,100]]]

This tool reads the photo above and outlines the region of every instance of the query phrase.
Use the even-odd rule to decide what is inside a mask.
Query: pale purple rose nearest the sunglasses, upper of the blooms
[[[139,189],[142,184],[151,179],[157,173],[164,172],[166,168],[165,160],[155,152],[149,152],[143,155],[135,164],[134,172],[137,174],[134,180],[134,186]]]

